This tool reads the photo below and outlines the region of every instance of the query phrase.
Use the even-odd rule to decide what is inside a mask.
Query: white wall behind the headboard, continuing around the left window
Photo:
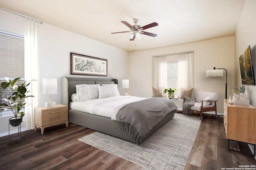
[[[24,35],[24,18],[0,11],[0,30]],[[86,31],[86,30],[85,30]],[[40,106],[49,101],[49,95],[42,93],[43,78],[58,79],[58,94],[52,101],[61,104],[61,77],[92,77],[70,75],[70,52],[108,60],[107,78],[116,78],[122,87],[122,79],[129,79],[129,53],[122,49],[68,32],[47,23],[39,25],[39,83]],[[100,78],[100,76],[95,76]],[[106,77],[101,77],[106,78]],[[124,89],[120,88],[120,93]],[[8,118],[0,118],[0,136],[8,134]],[[26,120],[24,120],[26,121]],[[22,123],[24,130],[25,123]],[[12,130],[12,129],[11,129]],[[13,129],[17,132],[17,128]]]

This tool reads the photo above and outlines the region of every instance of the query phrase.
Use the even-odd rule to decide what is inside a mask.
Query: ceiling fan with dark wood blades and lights
[[[124,25],[128,26],[131,30],[130,31],[123,31],[123,32],[112,32],[111,34],[118,34],[118,33],[125,33],[125,32],[132,32],[132,35],[130,36],[130,41],[133,41],[135,39],[135,37],[139,40],[140,39],[140,34],[144,34],[147,36],[152,36],[152,37],[156,37],[157,34],[153,34],[150,32],[145,32],[143,30],[146,30],[148,28],[151,27],[155,27],[158,26],[158,24],[156,22],[153,22],[151,24],[148,24],[146,26],[139,26],[137,25],[138,19],[134,19],[133,22],[135,23],[135,25],[131,26],[128,22],[126,21],[121,21]]]

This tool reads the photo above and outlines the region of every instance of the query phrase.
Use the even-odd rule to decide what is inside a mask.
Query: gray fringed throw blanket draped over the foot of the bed
[[[171,111],[177,111],[176,105],[167,98],[152,97],[124,105],[116,114],[117,128],[127,132],[134,143],[141,144],[157,123]]]

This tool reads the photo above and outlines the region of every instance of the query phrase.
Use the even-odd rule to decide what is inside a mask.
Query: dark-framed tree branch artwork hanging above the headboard
[[[108,60],[70,53],[70,74],[108,76]]]

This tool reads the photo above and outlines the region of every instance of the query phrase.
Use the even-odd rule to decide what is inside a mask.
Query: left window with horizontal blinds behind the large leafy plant
[[[24,36],[0,30],[0,61],[0,83],[5,81],[4,77],[24,77]],[[1,103],[3,97],[0,95]],[[0,112],[0,117],[10,115],[11,111]]]

